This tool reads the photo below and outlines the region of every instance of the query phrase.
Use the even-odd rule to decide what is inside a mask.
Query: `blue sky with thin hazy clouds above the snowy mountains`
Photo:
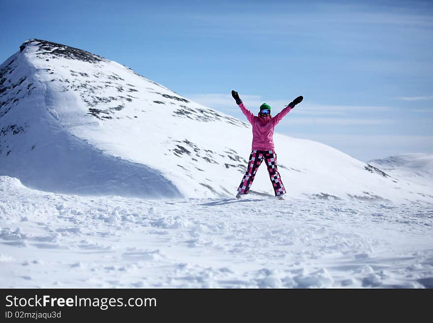
[[[274,114],[303,95],[276,132],[363,161],[433,153],[433,1],[376,2],[1,0],[0,61],[50,40],[235,117],[231,89]]]

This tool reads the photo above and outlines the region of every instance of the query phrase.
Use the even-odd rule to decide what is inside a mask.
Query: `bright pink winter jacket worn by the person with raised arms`
[[[242,113],[252,125],[252,150],[274,150],[274,128],[292,108],[286,106],[275,117],[254,116],[244,103],[239,105]]]

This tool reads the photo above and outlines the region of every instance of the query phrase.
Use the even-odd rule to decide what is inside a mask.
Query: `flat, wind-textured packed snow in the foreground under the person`
[[[0,197],[1,288],[433,288],[428,203]]]

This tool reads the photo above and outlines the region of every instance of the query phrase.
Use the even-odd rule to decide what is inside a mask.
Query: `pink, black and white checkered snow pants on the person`
[[[273,150],[253,150],[249,155],[247,172],[242,178],[241,185],[239,185],[238,192],[248,194],[252,181],[254,180],[255,173],[257,172],[262,161],[265,160],[268,167],[269,177],[271,178],[274,187],[275,196],[285,194],[284,185],[279,177],[277,169],[277,154]]]

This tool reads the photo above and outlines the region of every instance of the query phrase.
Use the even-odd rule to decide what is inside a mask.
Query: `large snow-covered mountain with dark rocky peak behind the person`
[[[32,39],[0,65],[0,175],[31,188],[232,197],[251,136],[246,122],[83,50]],[[289,197],[433,202],[431,185],[317,142],[274,138]],[[265,167],[251,194],[273,194]]]

